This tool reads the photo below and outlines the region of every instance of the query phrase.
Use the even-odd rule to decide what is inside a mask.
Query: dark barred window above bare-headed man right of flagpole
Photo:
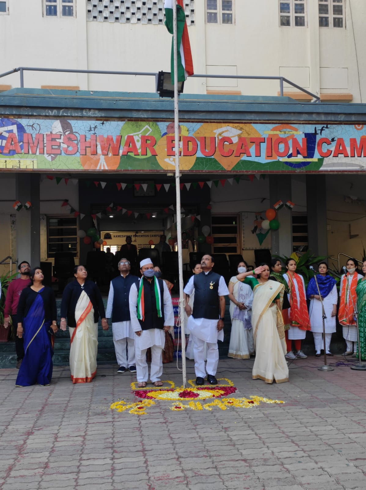
[[[238,216],[211,217],[212,253],[239,253]]]

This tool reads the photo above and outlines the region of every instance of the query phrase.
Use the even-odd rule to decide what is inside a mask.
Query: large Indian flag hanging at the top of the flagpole
[[[164,1],[165,25],[173,34],[173,0]],[[187,76],[193,75],[192,52],[189,44],[188,28],[185,23],[183,0],[177,0],[177,48],[178,48],[178,81],[183,82]],[[172,84],[174,84],[174,44],[170,60]]]

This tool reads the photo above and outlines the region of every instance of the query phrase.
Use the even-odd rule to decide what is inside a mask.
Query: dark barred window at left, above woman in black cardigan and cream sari
[[[47,217],[47,257],[56,252],[72,252],[78,256],[77,218],[65,216]]]

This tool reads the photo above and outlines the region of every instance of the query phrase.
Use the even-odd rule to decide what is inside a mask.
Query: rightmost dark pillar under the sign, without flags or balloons
[[[328,255],[325,175],[306,175],[306,207],[309,249],[315,255]]]

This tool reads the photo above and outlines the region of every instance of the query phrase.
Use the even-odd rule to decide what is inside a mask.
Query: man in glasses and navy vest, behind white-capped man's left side
[[[136,372],[135,365],[135,332],[131,326],[129,295],[133,284],[138,284],[138,277],[130,274],[130,262],[122,258],[118,262],[119,276],[111,281],[109,289],[106,318],[112,318],[112,331],[115,356],[118,363],[118,374],[126,369]]]

